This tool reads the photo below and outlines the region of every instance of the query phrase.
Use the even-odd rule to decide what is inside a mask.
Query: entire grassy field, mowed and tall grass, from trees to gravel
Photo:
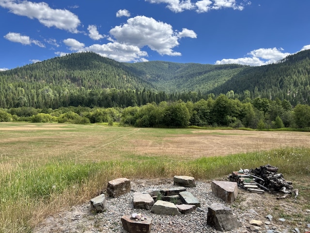
[[[310,209],[309,139],[309,132],[0,123],[0,232],[31,232],[115,178],[211,180],[266,164],[296,183],[300,208]]]

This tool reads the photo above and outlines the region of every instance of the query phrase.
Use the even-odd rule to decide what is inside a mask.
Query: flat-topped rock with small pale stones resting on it
[[[150,217],[146,217],[143,221],[136,221],[131,219],[130,215],[122,216],[121,221],[124,229],[129,233],[150,233],[153,220]]]

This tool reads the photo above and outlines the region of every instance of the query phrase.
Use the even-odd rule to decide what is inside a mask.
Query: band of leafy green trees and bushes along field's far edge
[[[58,123],[101,123],[134,127],[232,127],[232,128],[309,128],[310,106],[287,100],[247,98],[243,101],[219,95],[198,101],[155,101],[141,106],[85,107],[58,109],[18,107],[0,109],[0,121],[31,121]]]

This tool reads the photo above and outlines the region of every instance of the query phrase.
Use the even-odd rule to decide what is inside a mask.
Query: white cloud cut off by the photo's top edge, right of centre
[[[222,8],[232,8],[242,11],[244,5],[251,4],[249,0],[244,0],[241,4],[237,4],[236,0],[198,0],[196,3],[191,0],[145,0],[150,3],[166,3],[167,8],[172,12],[178,13],[185,10],[196,10],[198,13],[208,12],[210,10],[219,10]]]

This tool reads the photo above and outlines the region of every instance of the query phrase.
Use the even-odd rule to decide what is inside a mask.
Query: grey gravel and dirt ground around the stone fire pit
[[[263,222],[268,220],[265,216],[269,213],[263,211],[265,203],[263,200],[266,200],[265,195],[270,194],[260,195],[239,189],[238,199],[232,204],[228,204],[212,193],[211,183],[209,182],[196,181],[195,188],[186,188],[201,202],[201,208],[204,210],[202,212],[193,211],[190,214],[182,214],[181,216],[166,216],[133,208],[132,200],[135,192],[172,186],[173,179],[132,180],[129,193],[118,198],[107,198],[108,210],[106,212],[92,213],[89,202],[73,206],[68,211],[47,217],[44,222],[34,229],[34,233],[126,233],[121,223],[121,217],[132,213],[142,213],[153,218],[151,233],[217,233],[213,227],[208,226],[206,223],[208,206],[215,202],[223,203],[232,208],[233,213],[238,217],[238,221],[241,222],[242,227],[230,231],[231,233],[251,232],[249,230],[249,221],[252,219]],[[271,195],[270,198],[274,202],[275,197]],[[263,224],[261,228],[261,233],[266,233],[268,229],[273,230],[271,231],[273,233],[292,232],[284,223],[279,221]]]

